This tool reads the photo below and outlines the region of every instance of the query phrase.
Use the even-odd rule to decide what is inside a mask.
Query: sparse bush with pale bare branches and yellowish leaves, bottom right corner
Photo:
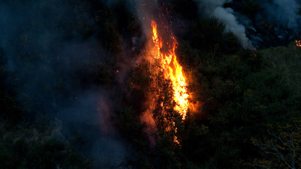
[[[268,136],[262,141],[251,139],[255,146],[262,151],[262,158],[255,158],[250,165],[256,168],[299,168],[301,156],[301,121],[294,120],[293,124],[278,126],[273,132],[269,125]]]

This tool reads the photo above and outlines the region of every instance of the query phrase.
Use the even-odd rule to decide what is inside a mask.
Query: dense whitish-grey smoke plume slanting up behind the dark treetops
[[[243,47],[255,49],[252,42],[247,38],[245,27],[238,23],[236,17],[233,15],[231,8],[222,8],[225,3],[232,2],[232,0],[194,0],[199,5],[199,11],[204,17],[215,16],[218,17],[226,25],[226,31],[232,31],[240,41]]]

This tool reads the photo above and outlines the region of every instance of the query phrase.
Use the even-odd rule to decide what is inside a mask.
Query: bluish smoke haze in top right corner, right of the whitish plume
[[[260,30],[251,33],[252,41],[261,46],[274,43],[272,46],[287,45],[300,36],[301,16],[299,0],[258,1],[261,9],[254,17],[253,25]],[[263,29],[263,30],[262,30]]]

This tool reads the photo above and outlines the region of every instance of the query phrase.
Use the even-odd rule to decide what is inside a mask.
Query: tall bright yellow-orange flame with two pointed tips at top
[[[177,57],[175,55],[175,45],[177,44],[177,42],[175,38],[172,37],[174,39],[172,50],[169,51],[167,54],[163,54],[160,51],[160,48],[162,48],[163,44],[161,38],[157,34],[157,23],[154,20],[152,20],[151,26],[153,28],[153,41],[155,44],[154,57],[161,61],[161,71],[164,73],[164,77],[166,79],[170,78],[172,81],[172,88],[175,92],[173,100],[177,103],[177,105],[175,106],[175,110],[182,115],[182,119],[184,120],[188,109],[188,94],[186,93],[185,89],[187,84],[182,74],[182,66],[179,65]]]

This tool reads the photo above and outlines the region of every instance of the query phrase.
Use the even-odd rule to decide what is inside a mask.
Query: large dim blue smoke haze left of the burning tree
[[[117,166],[126,147],[111,119],[119,109],[112,108],[118,98],[111,90],[118,93],[120,89],[118,84],[107,89],[98,85],[102,82],[95,82],[98,79],[91,79],[95,72],[104,73],[105,80],[107,74],[114,76],[110,74],[115,69],[113,57],[95,34],[83,37],[85,32],[80,32],[101,30],[85,12],[90,7],[70,4],[59,0],[0,2],[0,59],[22,86],[20,100],[24,96],[32,100],[29,116],[45,114],[61,119],[65,137],[82,131],[89,147],[80,148],[79,143],[79,148],[102,159],[100,166]],[[128,64],[122,64],[125,73],[113,77],[117,81],[136,63],[127,60]]]

